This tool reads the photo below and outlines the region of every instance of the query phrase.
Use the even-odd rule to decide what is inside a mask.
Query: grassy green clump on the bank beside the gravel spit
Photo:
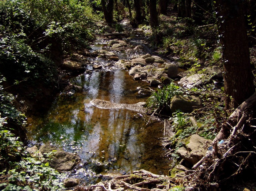
[[[147,100],[147,107],[153,108],[156,111],[166,112],[170,110],[170,101],[174,95],[182,94],[182,88],[171,82],[162,89],[152,91],[152,95]]]

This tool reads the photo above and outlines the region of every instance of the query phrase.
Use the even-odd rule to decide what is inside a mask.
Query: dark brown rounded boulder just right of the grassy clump
[[[170,104],[171,112],[181,110],[184,113],[191,113],[194,109],[202,106],[202,100],[196,96],[173,96]]]

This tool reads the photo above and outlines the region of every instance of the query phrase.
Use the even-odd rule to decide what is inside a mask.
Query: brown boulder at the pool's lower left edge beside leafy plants
[[[42,145],[39,151],[43,154],[52,152],[50,159],[45,161],[49,162],[50,167],[59,172],[72,170],[81,160],[78,155],[57,150],[52,145]]]

